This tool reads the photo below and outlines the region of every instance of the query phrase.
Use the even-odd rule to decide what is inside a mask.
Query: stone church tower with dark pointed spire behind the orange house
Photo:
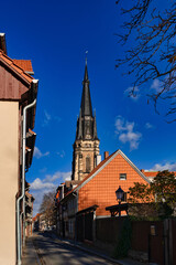
[[[73,151],[72,180],[82,180],[97,166],[99,157],[96,112],[92,114],[87,60],[82,81],[82,95],[79,117],[77,118],[76,139]]]

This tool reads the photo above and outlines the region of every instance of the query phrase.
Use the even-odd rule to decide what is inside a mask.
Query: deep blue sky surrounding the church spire
[[[7,0],[1,10],[8,55],[31,59],[40,80],[36,149],[26,174],[36,199],[34,213],[43,193],[70,176],[87,50],[101,155],[120,148],[139,169],[176,170],[176,123],[167,124],[145,96],[160,81],[140,88],[135,98],[128,97],[132,76],[114,67],[124,51],[116,36],[122,31],[116,1]]]

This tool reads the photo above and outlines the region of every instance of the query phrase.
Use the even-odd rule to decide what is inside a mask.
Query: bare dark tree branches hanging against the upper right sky
[[[128,65],[128,73],[134,75],[131,93],[148,81],[157,80],[160,88],[147,88],[148,100],[164,99],[168,107],[166,115],[176,121],[176,2],[174,0],[118,0],[124,22],[123,34],[118,35],[122,45],[132,39],[134,45],[117,60],[117,67]],[[157,8],[156,8],[157,4]],[[165,7],[163,7],[165,4]],[[128,8],[123,8],[128,7]],[[160,8],[158,8],[160,7]],[[148,84],[148,83],[147,83]],[[174,115],[174,116],[172,116]]]

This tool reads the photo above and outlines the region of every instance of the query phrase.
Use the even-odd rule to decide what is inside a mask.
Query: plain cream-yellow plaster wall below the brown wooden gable
[[[0,102],[0,264],[15,264],[19,103]]]

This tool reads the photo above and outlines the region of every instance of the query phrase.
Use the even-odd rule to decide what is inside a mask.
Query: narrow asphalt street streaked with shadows
[[[73,245],[68,245],[58,240],[55,234],[48,232],[35,234],[33,244],[42,265],[114,264],[102,257],[74,247]]]

